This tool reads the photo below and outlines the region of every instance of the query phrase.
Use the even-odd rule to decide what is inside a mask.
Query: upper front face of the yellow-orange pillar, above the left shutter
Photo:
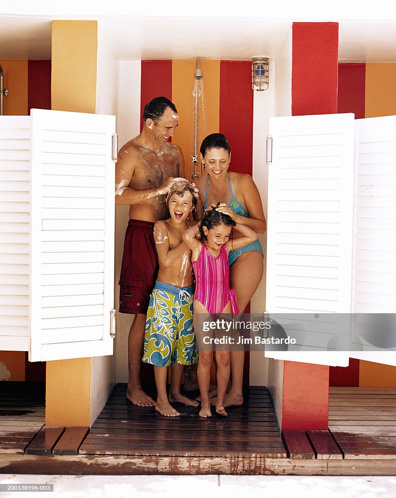
[[[95,113],[97,21],[52,21],[51,103],[56,111]]]

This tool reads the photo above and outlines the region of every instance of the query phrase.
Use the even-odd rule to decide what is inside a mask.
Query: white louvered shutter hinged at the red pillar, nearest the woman
[[[326,343],[345,344],[346,351],[326,352],[315,344],[323,334],[310,334],[307,343],[301,331],[287,352],[265,356],[346,366],[346,315],[338,321],[334,314],[351,312],[354,115],[271,118],[270,135],[266,311],[316,313]],[[301,345],[310,351],[299,351]]]

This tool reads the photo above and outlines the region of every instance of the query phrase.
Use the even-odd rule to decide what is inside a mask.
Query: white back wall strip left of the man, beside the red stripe
[[[120,61],[117,133],[119,148],[140,133],[140,74],[141,61]],[[129,206],[116,206],[116,261],[114,270],[114,307],[119,309],[121,262]],[[116,382],[128,382],[128,335],[134,315],[117,311]]]

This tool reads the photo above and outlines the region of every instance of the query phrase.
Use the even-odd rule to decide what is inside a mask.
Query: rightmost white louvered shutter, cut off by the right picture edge
[[[396,365],[396,116],[356,120],[355,142],[351,356]]]

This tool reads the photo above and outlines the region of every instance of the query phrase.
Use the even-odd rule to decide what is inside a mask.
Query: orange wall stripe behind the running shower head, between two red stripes
[[[192,150],[194,136],[194,77],[196,61],[172,62],[172,102],[179,114],[179,126],[173,142],[183,151],[186,177],[192,174]],[[205,94],[206,134],[219,131],[220,61],[201,61]],[[198,150],[204,138],[203,130],[198,134]],[[201,167],[199,163],[198,172]]]

